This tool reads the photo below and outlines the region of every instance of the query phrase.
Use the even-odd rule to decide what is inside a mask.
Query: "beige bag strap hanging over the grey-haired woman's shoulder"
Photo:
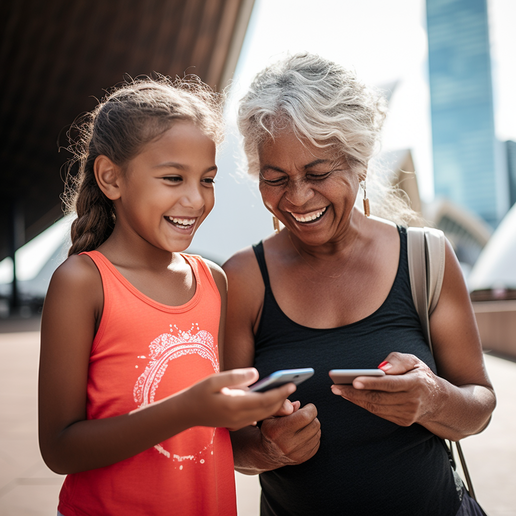
[[[433,354],[429,316],[436,308],[444,276],[444,233],[434,228],[407,228],[407,257],[414,307],[421,321],[426,342]],[[444,442],[444,440],[443,440]],[[470,496],[476,500],[470,473],[459,441],[455,442]],[[455,466],[453,447],[445,443],[451,464]]]

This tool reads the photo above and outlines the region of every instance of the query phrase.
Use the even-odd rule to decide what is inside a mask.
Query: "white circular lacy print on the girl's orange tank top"
[[[196,333],[192,333],[194,329],[197,330]],[[174,334],[174,331],[176,334]],[[192,327],[188,331],[183,331],[175,325],[170,325],[170,333],[163,333],[156,337],[149,345],[149,352],[151,360],[144,372],[139,376],[133,389],[134,400],[139,403],[138,408],[149,405],[154,401],[159,382],[163,378],[171,360],[187,354],[198,354],[200,357],[211,361],[215,373],[219,372],[218,350],[215,346],[213,335],[208,331],[200,330],[197,322],[192,323]],[[139,358],[146,357],[142,356]],[[156,444],[154,448],[168,459],[172,458],[173,461],[190,461],[204,464],[203,456],[213,455],[214,437],[215,428],[213,428],[211,441],[201,450],[189,455],[171,455],[170,451],[166,450],[162,444]],[[183,469],[182,464],[179,466],[179,469]]]

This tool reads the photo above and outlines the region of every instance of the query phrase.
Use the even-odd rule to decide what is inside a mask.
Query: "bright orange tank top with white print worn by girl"
[[[88,368],[87,418],[125,414],[219,372],[220,295],[200,256],[182,254],[193,297],[170,307],[143,295],[98,251],[104,310]],[[236,515],[229,432],[193,427],[116,464],[68,475],[64,516]]]

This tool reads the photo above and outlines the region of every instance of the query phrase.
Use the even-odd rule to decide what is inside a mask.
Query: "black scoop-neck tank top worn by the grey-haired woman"
[[[407,233],[398,231],[399,264],[389,295],[373,314],[338,328],[308,328],[289,319],[272,294],[263,245],[253,246],[265,284],[254,366],[261,377],[313,367],[314,376],[291,399],[313,403],[321,425],[311,459],[260,475],[262,516],[453,516],[459,508],[438,437],[418,424],[384,420],[330,390],[330,369],[376,368],[391,351],[412,353],[436,370],[412,301]]]

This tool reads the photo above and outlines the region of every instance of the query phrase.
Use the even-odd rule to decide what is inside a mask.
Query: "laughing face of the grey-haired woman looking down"
[[[359,188],[358,174],[345,157],[301,142],[292,132],[265,140],[258,153],[267,209],[306,244],[338,239],[349,224]]]

